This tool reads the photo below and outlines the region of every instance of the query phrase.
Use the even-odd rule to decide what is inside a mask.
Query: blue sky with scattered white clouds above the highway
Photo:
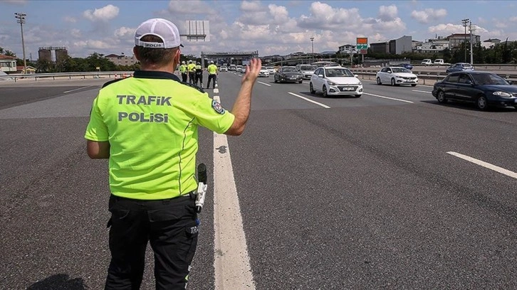
[[[207,41],[182,38],[182,53],[255,51],[259,56],[301,51],[336,51],[355,45],[412,36],[427,41],[464,33],[469,18],[481,41],[517,40],[517,1],[43,1],[0,0],[0,47],[37,60],[42,46],[66,46],[72,57],[92,53],[132,55],[137,26],[148,18],[166,18],[179,32],[188,21],[209,21]],[[313,37],[313,42],[310,38]],[[313,46],[312,46],[313,45]]]

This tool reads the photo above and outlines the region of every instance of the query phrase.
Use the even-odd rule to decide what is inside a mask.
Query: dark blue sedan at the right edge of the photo
[[[432,95],[440,103],[473,102],[481,110],[489,106],[517,109],[517,86],[495,73],[474,70],[451,73],[434,83]]]

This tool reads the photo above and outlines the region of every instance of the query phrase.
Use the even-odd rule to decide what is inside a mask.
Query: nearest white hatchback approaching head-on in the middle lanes
[[[329,66],[316,68],[310,77],[311,94],[322,92],[323,97],[332,95],[362,95],[362,82],[348,68]]]

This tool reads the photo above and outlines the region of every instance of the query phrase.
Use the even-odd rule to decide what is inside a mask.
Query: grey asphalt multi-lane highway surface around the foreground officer
[[[231,109],[240,80],[207,92]],[[0,289],[103,288],[108,161],[83,135],[105,81],[0,82]],[[517,289],[517,110],[363,84],[323,98],[259,78],[242,136],[200,130],[187,289]]]

